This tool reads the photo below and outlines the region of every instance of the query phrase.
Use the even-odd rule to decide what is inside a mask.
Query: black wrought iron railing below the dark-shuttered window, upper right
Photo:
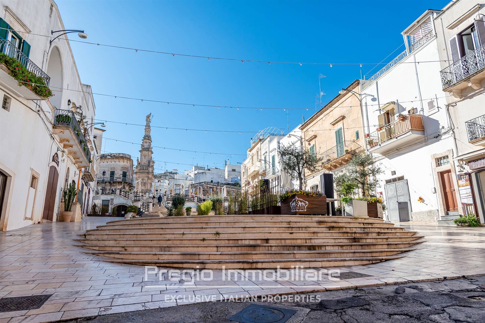
[[[484,67],[485,46],[481,46],[440,72],[443,89],[453,86]]]

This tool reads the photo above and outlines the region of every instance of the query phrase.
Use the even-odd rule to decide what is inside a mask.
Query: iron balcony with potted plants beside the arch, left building
[[[82,154],[86,159],[84,161],[79,160],[79,163],[81,163],[79,166],[89,166],[91,161],[91,152],[89,151],[86,138],[84,138],[83,132],[79,126],[76,116],[74,115],[74,112],[71,110],[56,109],[54,116],[54,134],[59,135],[61,138],[67,139],[67,142],[70,142],[71,139],[77,141],[76,144],[78,145],[79,150],[74,150],[72,154],[77,155],[78,152],[82,151]],[[74,143],[65,144],[65,146],[71,146],[71,148],[74,148]],[[68,154],[70,153],[68,152]],[[79,158],[79,155],[74,156],[74,159]]]

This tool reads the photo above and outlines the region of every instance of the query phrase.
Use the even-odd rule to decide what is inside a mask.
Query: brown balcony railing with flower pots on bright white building
[[[369,148],[382,144],[390,139],[399,137],[411,130],[424,131],[422,116],[420,114],[407,114],[403,120],[394,120],[393,122],[382,126],[379,131],[374,131],[367,138]]]

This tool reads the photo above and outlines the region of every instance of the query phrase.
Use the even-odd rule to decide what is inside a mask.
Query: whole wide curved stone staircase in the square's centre
[[[401,258],[422,242],[378,218],[309,215],[136,218],[80,237],[77,246],[106,261],[200,269],[362,265]]]

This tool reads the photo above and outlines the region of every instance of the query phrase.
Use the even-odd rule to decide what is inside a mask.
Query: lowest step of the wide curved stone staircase
[[[382,262],[387,260],[399,259],[401,256],[386,257],[355,257],[355,258],[310,258],[310,259],[258,259],[258,260],[145,260],[145,259],[107,259],[103,261],[121,262],[136,265],[151,265],[174,268],[191,268],[191,269],[268,269],[268,268],[320,268],[320,267],[340,267],[352,265],[365,265],[369,263]],[[154,283],[156,285],[156,283]]]

